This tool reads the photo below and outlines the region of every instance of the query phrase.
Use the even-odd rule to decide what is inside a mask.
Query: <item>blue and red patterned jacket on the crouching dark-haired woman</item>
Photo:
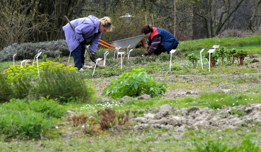
[[[165,29],[153,27],[153,32],[147,38],[147,51],[144,55],[153,53],[158,45],[161,45],[169,53],[176,44],[179,44],[179,41],[170,32]]]

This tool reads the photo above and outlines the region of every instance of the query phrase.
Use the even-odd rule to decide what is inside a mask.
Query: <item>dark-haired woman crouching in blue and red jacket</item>
[[[147,38],[147,51],[142,57],[154,53],[160,55],[163,52],[169,53],[172,49],[176,49],[179,41],[171,33],[165,29],[144,25],[142,33]]]

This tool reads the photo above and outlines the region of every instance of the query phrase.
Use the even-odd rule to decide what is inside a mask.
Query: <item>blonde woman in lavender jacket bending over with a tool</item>
[[[83,70],[84,65],[84,45],[90,45],[91,60],[95,60],[96,49],[98,47],[102,32],[110,32],[113,28],[109,17],[96,18],[89,15],[86,18],[78,18],[71,21],[75,31],[69,23],[62,27],[67,45],[74,57],[74,64],[78,70]]]

